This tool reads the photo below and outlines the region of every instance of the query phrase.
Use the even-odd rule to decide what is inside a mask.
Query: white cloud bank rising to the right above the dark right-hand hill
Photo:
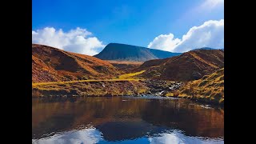
[[[224,19],[194,26],[182,39],[174,38],[174,34],[161,34],[148,47],[172,52],[186,52],[201,47],[224,48]]]

